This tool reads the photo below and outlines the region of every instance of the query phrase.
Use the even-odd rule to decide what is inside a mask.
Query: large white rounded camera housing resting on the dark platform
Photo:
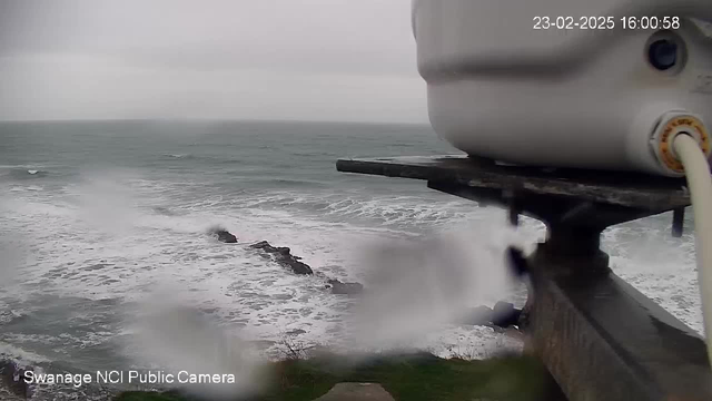
[[[503,163],[681,176],[660,130],[710,155],[703,20],[709,0],[415,0],[432,126]]]

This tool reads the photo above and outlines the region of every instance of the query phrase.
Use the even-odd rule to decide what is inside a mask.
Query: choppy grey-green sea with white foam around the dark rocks
[[[437,154],[457,151],[427,126],[2,123],[0,352],[71,372],[144,366],[135,320],[166,292],[265,352],[295,331],[328,345],[353,301],[325,290],[323,276],[363,281],[368,244],[455,228],[482,250],[542,237],[534,221],[513,232],[502,211],[423,182],[335,168],[339,157]],[[613,227],[603,246],[619,275],[701,331],[694,238],[691,229],[672,238],[671,219]],[[207,236],[216,224],[240,243]],[[263,239],[317,275],[290,274],[246,246]],[[414,336],[473,358],[510,341],[461,325]]]

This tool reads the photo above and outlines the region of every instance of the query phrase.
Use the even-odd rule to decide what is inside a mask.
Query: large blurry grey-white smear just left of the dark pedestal
[[[389,241],[364,253],[368,294],[350,323],[359,346],[392,348],[457,320],[472,306],[506,296],[510,232],[478,223],[417,241]]]

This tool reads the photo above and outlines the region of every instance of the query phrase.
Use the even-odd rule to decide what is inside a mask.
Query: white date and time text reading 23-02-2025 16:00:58
[[[533,29],[679,29],[680,17],[540,17],[533,18]]]

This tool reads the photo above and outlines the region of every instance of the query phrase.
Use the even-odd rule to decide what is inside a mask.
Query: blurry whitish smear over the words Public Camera
[[[179,294],[157,294],[145,303],[132,344],[141,362],[162,369],[159,373],[166,380],[160,384],[210,399],[259,392],[264,371],[246,344],[188,306]],[[134,379],[150,382],[150,373],[136,373]]]

